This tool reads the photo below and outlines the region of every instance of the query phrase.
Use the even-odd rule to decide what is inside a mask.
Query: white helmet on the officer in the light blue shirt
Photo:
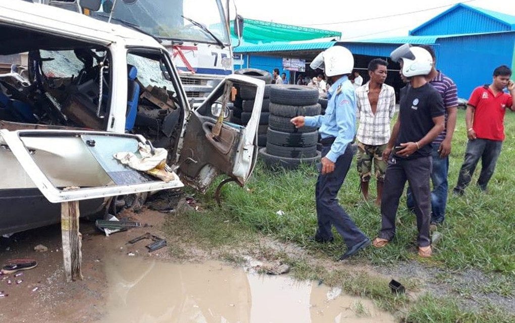
[[[324,70],[327,76],[350,74],[354,68],[354,57],[349,49],[335,45],[318,54],[310,67]]]

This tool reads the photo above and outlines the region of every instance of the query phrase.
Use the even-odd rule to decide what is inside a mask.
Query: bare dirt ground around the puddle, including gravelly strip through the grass
[[[175,241],[168,241],[169,246],[180,244],[180,248],[184,252],[179,259],[174,258],[168,248],[149,253],[145,248],[150,243],[149,240],[143,240],[134,245],[127,244],[127,242],[146,232],[164,237],[159,229],[162,227],[166,215],[144,208],[141,213],[126,212],[122,216],[130,216],[131,220],[149,224],[152,227],[132,228],[107,237],[95,228],[94,223],[81,220],[82,275],[84,279],[72,283],[64,282],[60,225],[17,233],[9,238],[0,237],[0,264],[4,264],[10,259],[35,259],[38,262],[36,268],[20,271],[23,273],[21,276],[14,277],[14,274],[7,275],[7,277],[0,276],[0,292],[8,295],[0,297],[0,322],[99,321],[105,315],[105,304],[109,296],[106,288],[105,263],[110,257],[130,256],[142,259],[148,257],[168,262],[177,260],[203,262],[219,259],[221,254],[227,253],[224,247],[205,251],[196,246],[181,243],[180,236],[174,237]],[[291,257],[307,257],[313,264],[324,266],[329,270],[345,266],[346,270],[355,270],[360,273],[366,271],[371,276],[388,279],[391,277],[418,277],[426,282],[421,286],[421,290],[429,290],[436,295],[460,297],[452,285],[435,282],[435,277],[439,274],[438,269],[425,268],[416,262],[403,263],[389,268],[374,268],[359,262],[341,264],[330,259],[314,258],[302,248],[293,244],[277,242],[268,237],[260,238],[259,243],[261,247],[275,252],[284,252]],[[35,251],[34,247],[40,244],[46,246],[48,251]],[[256,259],[262,256],[252,253],[252,249],[249,247],[248,250],[237,250],[236,253],[245,259]],[[235,250],[231,249],[231,251]],[[263,258],[259,260],[267,261]],[[481,273],[462,273],[458,276],[459,284],[484,278]],[[19,280],[22,281],[16,283]],[[421,290],[416,294],[422,292]],[[412,296],[415,297],[416,294]],[[515,304],[511,298],[480,293],[472,295],[467,304],[468,307],[474,308],[477,301],[481,299],[488,299],[509,312],[515,310]]]

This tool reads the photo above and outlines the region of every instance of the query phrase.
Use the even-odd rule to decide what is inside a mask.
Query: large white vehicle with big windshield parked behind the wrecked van
[[[33,0],[70,10],[81,10],[80,3],[87,1]],[[221,0],[102,0],[97,11],[84,13],[102,21],[112,13],[112,23],[157,38],[173,57],[188,100],[197,106],[234,72],[229,1],[224,8]]]

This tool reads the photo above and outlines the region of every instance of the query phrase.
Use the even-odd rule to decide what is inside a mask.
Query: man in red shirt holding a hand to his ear
[[[504,140],[504,114],[506,109],[515,110],[513,107],[515,83],[510,80],[510,76],[511,70],[508,66],[499,66],[493,71],[492,84],[475,88],[470,96],[465,116],[469,142],[454,194],[464,193],[472,180],[479,158],[481,158],[482,168],[477,185],[482,191],[486,190],[497,158],[501,154]],[[511,95],[504,93],[504,88],[507,88]]]

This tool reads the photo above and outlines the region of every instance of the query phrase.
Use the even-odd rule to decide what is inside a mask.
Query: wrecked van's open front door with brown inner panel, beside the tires
[[[246,126],[220,122],[212,114],[221,97],[235,85],[255,87],[252,115]],[[184,132],[179,176],[182,182],[205,192],[220,173],[243,185],[252,174],[258,158],[257,132],[263,104],[265,82],[243,75],[229,75],[204,103],[192,112]],[[223,109],[221,113],[224,113]],[[216,134],[214,129],[220,129]]]

